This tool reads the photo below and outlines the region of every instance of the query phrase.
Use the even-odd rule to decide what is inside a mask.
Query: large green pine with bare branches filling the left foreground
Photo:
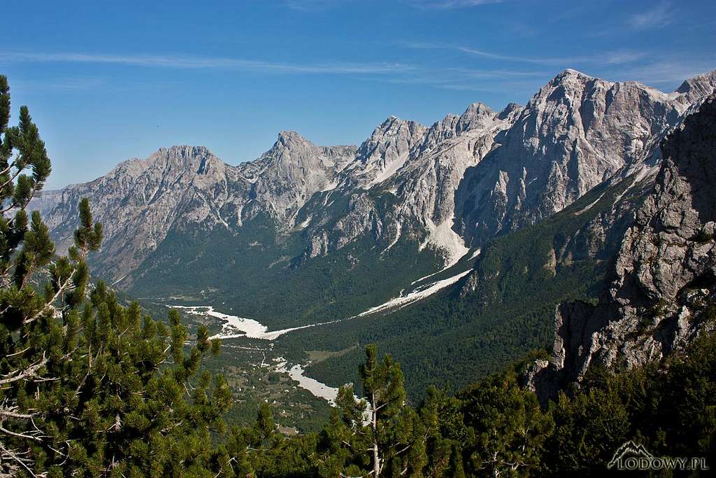
[[[87,199],[74,245],[56,254],[40,215],[25,211],[50,172],[44,143],[26,107],[16,127],[9,115],[0,76],[0,475],[216,476],[228,458],[212,434],[231,393],[200,363],[218,340],[90,285],[102,226]]]

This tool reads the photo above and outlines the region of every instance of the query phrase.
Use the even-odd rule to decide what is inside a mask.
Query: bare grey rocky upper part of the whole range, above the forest
[[[659,140],[715,84],[712,72],[667,94],[565,70],[524,107],[495,113],[475,102],[430,127],[391,116],[359,147],[314,145],[281,131],[260,158],[238,166],[202,147],[163,148],[35,204],[62,249],[79,199],[89,197],[109,226],[95,271],[117,287],[148,279],[168,260],[172,267],[192,261],[192,272],[210,267],[201,247],[179,262],[161,251],[168,239],[213,244],[215,234],[235,238],[233,245],[246,241],[251,254],[263,251],[256,270],[288,259],[310,267],[332,254],[355,262],[357,251],[348,250],[362,244],[364,261],[408,254],[434,272],[565,209],[625,169],[653,166]],[[248,274],[236,267],[231,274]],[[405,279],[419,277],[410,261],[399,267]],[[221,277],[213,280],[206,286],[221,290]]]

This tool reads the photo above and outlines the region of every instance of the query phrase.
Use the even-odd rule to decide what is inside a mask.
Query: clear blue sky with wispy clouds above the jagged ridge
[[[160,5],[163,4],[163,5]],[[716,69],[713,1],[11,1],[0,73],[53,162],[48,188],[162,146],[258,157],[279,130],[357,144],[526,102],[571,67],[674,90]]]

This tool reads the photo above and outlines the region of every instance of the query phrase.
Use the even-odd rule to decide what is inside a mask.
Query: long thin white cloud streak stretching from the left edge
[[[86,53],[33,53],[0,52],[0,62],[65,62],[123,64],[135,67],[183,68],[183,69],[231,69],[274,73],[316,73],[335,75],[382,75],[405,72],[413,67],[399,63],[281,63],[250,59],[221,57],[182,57],[145,54],[86,54]]]

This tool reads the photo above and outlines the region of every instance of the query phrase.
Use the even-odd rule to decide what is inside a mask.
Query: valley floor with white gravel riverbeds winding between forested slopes
[[[477,254],[479,251],[473,253],[470,259]],[[440,274],[445,270],[416,280],[412,283],[410,292],[404,290],[400,296],[370,307],[358,315],[281,330],[269,330],[268,326],[257,320],[220,312],[212,305],[170,303],[179,301],[181,297],[164,300],[154,298],[152,301],[153,305],[179,310],[189,323],[208,325],[213,334],[212,338],[221,338],[222,357],[214,359],[215,363],[210,365],[221,370],[229,379],[236,400],[233,414],[238,423],[250,423],[254,418],[253,411],[256,410],[254,407],[252,411],[252,406],[258,406],[258,403],[265,401],[275,406],[279,412],[277,419],[286,431],[309,431],[319,422],[317,416],[328,414],[329,406],[333,405],[337,397],[338,388],[306,375],[305,368],[314,360],[320,361],[318,357],[321,351],[295,350],[296,353],[308,354],[309,360],[293,363],[281,355],[281,350],[274,348],[274,340],[295,330],[320,328],[321,325],[360,320],[370,315],[400,309],[453,285],[469,272],[468,269],[440,278]],[[432,282],[427,280],[433,276],[438,279]]]

